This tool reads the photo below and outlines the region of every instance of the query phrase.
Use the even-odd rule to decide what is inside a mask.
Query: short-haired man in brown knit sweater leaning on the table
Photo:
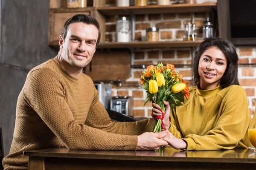
[[[151,132],[154,120],[111,122],[92,79],[82,74],[99,44],[99,23],[77,14],[64,24],[60,51],[33,68],[17,101],[15,131],[5,170],[27,169],[24,150],[155,150],[167,131]]]

